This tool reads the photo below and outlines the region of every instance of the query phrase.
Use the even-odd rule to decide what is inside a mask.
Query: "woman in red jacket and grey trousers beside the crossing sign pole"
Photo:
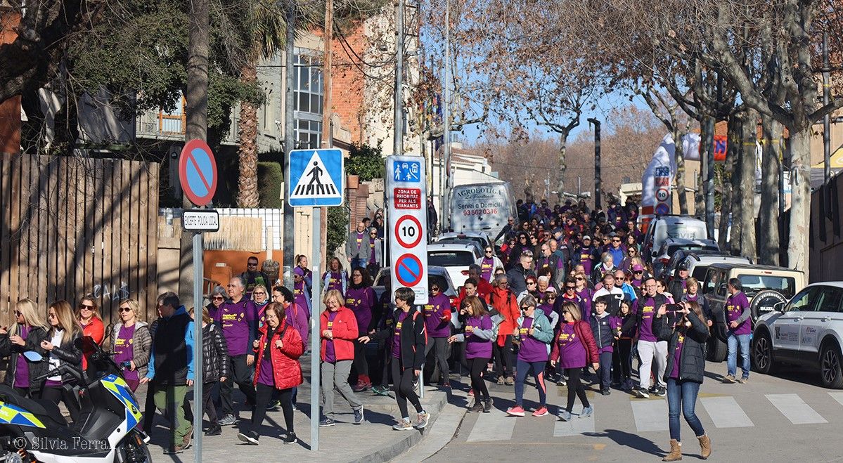
[[[322,419],[319,426],[333,426],[334,388],[348,401],[354,410],[354,423],[363,422],[363,402],[357,398],[348,384],[348,375],[354,361],[354,341],[357,341],[357,317],[354,312],[342,305],[342,293],[329,290],[322,302],[328,310],[319,316],[319,333],[322,346]]]

